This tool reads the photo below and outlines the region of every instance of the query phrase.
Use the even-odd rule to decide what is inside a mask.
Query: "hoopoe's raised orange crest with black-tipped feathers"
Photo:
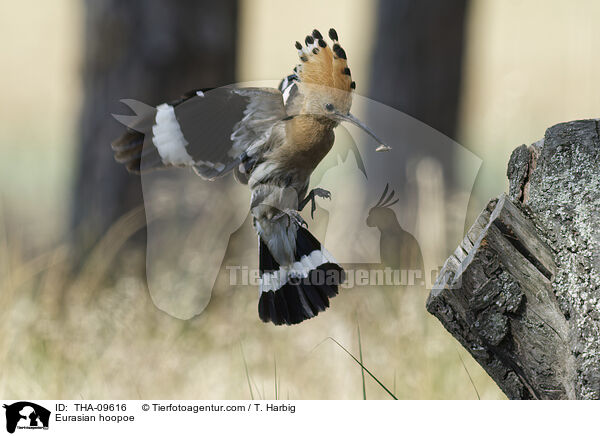
[[[325,42],[317,29],[304,39],[305,46],[296,41],[298,56],[302,63],[296,67],[300,88],[305,94],[306,88],[326,92],[334,100],[336,108],[348,112],[352,105],[352,90],[356,87],[352,81],[346,52],[338,42],[335,29],[329,29],[332,47]],[[306,86],[309,85],[309,86]]]

